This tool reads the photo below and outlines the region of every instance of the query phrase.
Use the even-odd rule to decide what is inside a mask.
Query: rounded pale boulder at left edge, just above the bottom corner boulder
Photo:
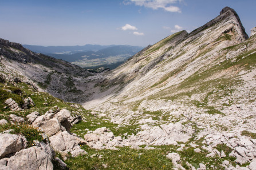
[[[0,134],[0,158],[26,148],[26,143],[27,140],[21,135],[13,135],[9,133]]]

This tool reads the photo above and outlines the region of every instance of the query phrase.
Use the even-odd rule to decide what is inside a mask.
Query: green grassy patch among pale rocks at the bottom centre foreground
[[[97,150],[84,145],[88,155],[70,157],[65,163],[70,169],[172,169],[167,159],[168,149],[132,149],[120,147],[117,150]]]

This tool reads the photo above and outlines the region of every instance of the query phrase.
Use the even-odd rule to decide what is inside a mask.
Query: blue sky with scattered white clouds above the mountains
[[[21,44],[148,46],[237,11],[246,33],[256,26],[255,0],[0,0],[0,38]]]

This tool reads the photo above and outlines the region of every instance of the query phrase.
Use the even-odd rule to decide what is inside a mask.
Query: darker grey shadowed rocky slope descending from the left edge
[[[4,39],[0,39],[0,57],[3,71],[0,77],[30,82],[34,87],[38,86],[40,91],[50,92],[69,102],[88,100],[88,96],[97,91],[88,82],[101,78],[84,68],[37,54],[21,44]]]

